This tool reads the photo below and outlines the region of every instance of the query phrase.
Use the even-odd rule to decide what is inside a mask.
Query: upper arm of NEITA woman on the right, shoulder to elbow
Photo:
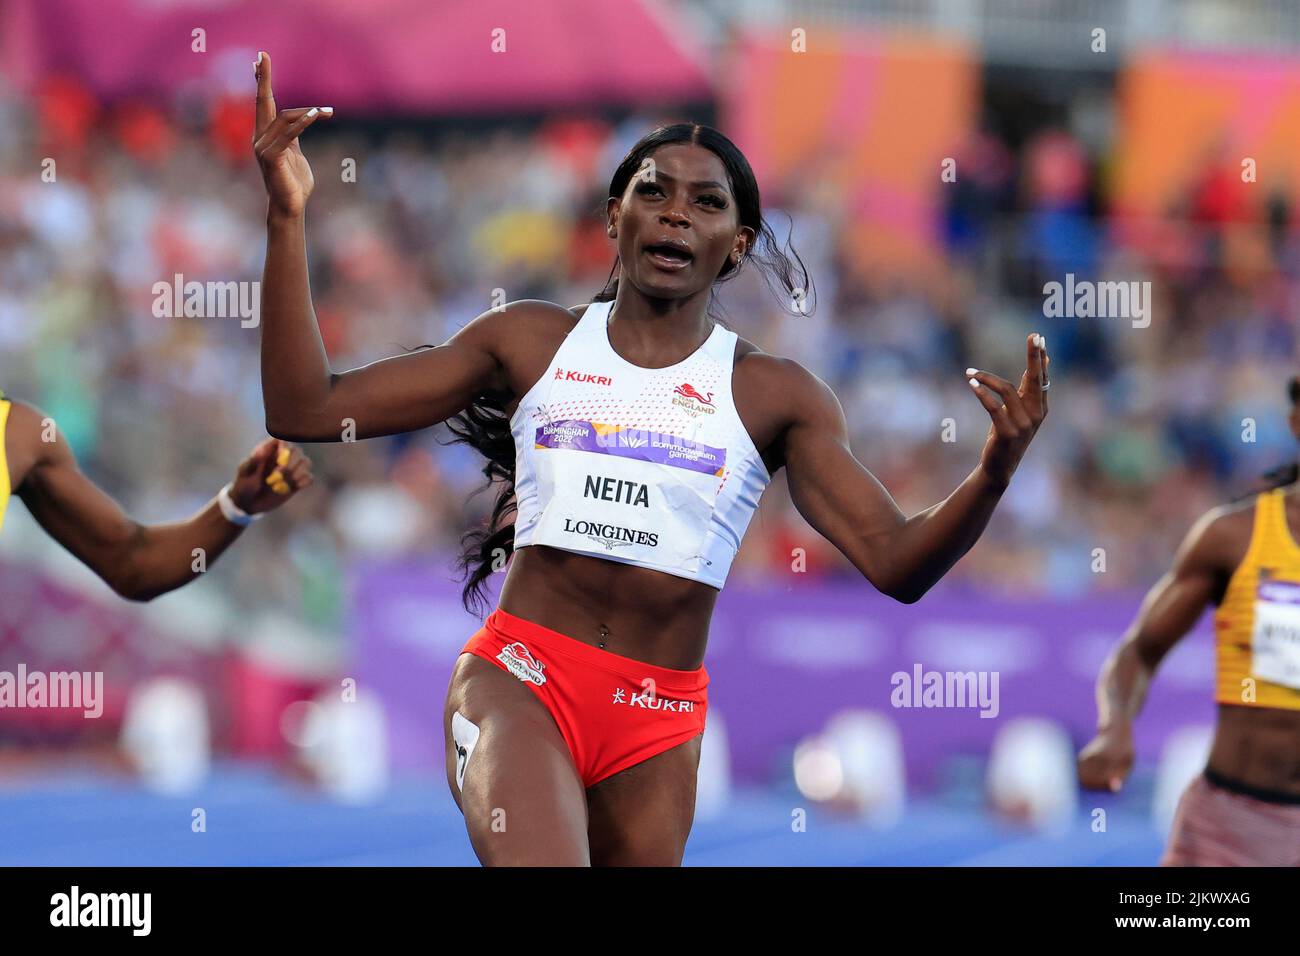
[[[881,588],[879,541],[906,524],[906,516],[875,475],[854,458],[844,408],[831,388],[789,359],[779,363],[771,386],[783,395],[790,420],[781,433],[790,499],[818,533],[840,549]]]

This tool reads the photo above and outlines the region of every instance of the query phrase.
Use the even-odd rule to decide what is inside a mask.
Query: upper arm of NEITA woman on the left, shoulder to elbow
[[[266,431],[289,441],[373,438],[446,421],[482,394],[508,395],[506,356],[546,311],[572,319],[536,300],[489,310],[442,345],[332,375],[324,407],[300,410],[294,421],[268,420]]]

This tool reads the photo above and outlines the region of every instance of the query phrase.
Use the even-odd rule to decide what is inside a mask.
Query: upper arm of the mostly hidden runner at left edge
[[[14,402],[9,433],[31,460],[16,494],[52,538],[110,581],[140,525],[86,477],[68,441],[39,410]]]

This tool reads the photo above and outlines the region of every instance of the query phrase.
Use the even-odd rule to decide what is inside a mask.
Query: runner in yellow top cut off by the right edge
[[[1300,381],[1288,389],[1300,438]],[[1218,727],[1205,773],[1178,804],[1162,866],[1300,866],[1296,468],[1274,484],[1192,525],[1097,679],[1097,735],[1079,754],[1079,780],[1117,791],[1156,667],[1216,605]]]

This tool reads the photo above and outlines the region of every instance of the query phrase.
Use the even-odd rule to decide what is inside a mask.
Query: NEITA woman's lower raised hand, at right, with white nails
[[[1024,375],[1017,389],[1006,378],[974,368],[966,369],[966,377],[988,411],[993,424],[988,429],[980,467],[998,486],[1005,488],[1020,463],[1024,450],[1030,446],[1039,425],[1048,414],[1048,364],[1046,339],[1034,333],[1027,339]]]

